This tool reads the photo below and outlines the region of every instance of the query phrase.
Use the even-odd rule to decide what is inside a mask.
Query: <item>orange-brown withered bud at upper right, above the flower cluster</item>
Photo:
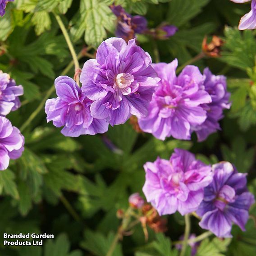
[[[224,45],[224,41],[217,36],[213,36],[209,44],[207,44],[207,37],[202,42],[202,51],[205,55],[217,58],[220,57],[221,46]]]

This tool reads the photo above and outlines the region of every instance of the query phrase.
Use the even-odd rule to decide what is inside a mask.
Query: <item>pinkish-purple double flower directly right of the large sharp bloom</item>
[[[206,110],[201,104],[211,102],[204,90],[204,76],[195,66],[186,66],[176,77],[178,61],[153,64],[161,81],[149,107],[149,114],[139,118],[140,128],[156,138],[166,137],[189,140],[191,128],[205,122]]]

